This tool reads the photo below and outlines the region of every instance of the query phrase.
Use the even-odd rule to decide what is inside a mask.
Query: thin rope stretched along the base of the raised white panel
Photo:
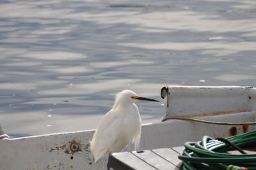
[[[230,123],[230,122],[212,122],[207,120],[200,120],[196,118],[186,118],[186,117],[166,117],[162,120],[162,122],[169,119],[178,119],[178,120],[189,120],[194,122],[201,122],[205,124],[214,124],[214,125],[256,125],[256,122],[239,122],[239,123]]]

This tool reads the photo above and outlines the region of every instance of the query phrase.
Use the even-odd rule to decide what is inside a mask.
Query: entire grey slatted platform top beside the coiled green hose
[[[113,153],[109,156],[108,166],[112,169],[179,169],[181,161],[178,156],[183,149],[182,146]]]

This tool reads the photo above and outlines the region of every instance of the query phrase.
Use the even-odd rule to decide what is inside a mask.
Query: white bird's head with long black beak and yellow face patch
[[[154,99],[148,99],[145,97],[140,97],[132,90],[123,90],[116,94],[115,104],[132,104],[136,101],[156,101]]]

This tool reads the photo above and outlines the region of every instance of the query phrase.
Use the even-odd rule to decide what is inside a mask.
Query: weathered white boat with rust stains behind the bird
[[[252,87],[163,87],[164,116],[196,117],[213,122],[256,122]],[[182,146],[202,136],[227,137],[255,125],[216,125],[170,119],[143,124],[139,150]],[[3,129],[0,129],[3,133]],[[88,142],[94,130],[0,139],[0,169],[107,169],[107,158],[94,163]],[[125,150],[132,150],[132,146]]]

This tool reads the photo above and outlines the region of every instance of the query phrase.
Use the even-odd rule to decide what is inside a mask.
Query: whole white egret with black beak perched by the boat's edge
[[[108,157],[110,153],[122,151],[129,143],[138,147],[141,118],[138,107],[134,104],[137,100],[156,101],[139,97],[131,90],[116,94],[113,108],[102,117],[90,141],[95,162],[102,156]]]

